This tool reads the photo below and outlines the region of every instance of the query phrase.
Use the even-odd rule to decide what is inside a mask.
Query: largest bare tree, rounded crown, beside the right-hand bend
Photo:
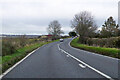
[[[93,16],[87,11],[80,12],[74,16],[71,21],[72,28],[79,34],[82,43],[86,37],[92,37],[95,34],[97,25],[95,24]]]

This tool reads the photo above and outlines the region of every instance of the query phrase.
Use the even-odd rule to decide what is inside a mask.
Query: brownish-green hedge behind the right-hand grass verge
[[[89,46],[120,48],[120,37],[88,38],[86,44],[88,44]]]

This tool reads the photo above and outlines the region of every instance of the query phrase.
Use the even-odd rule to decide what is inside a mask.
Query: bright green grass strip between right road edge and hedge
[[[80,44],[78,43],[78,38],[74,39],[71,42],[71,46],[120,59],[120,56],[118,55],[120,54],[120,49],[117,49],[117,48],[95,47],[95,46],[88,46],[88,45]]]

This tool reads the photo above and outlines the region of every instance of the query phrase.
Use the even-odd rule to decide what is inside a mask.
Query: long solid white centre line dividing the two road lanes
[[[59,46],[60,46],[60,44],[58,45],[58,47],[59,47]],[[59,48],[60,48],[60,47],[59,47]],[[61,48],[60,48],[60,49],[61,49]],[[72,58],[75,59],[76,61],[82,63],[82,64],[85,65],[86,67],[92,69],[93,71],[95,71],[95,72],[97,72],[98,74],[104,76],[105,78],[107,78],[107,79],[109,79],[109,80],[114,80],[114,79],[112,79],[110,76],[108,76],[108,75],[104,74],[103,72],[101,72],[101,71],[99,71],[99,70],[93,68],[92,66],[86,64],[85,62],[83,62],[82,60],[80,60],[80,59],[74,57],[73,55],[69,54],[69,53],[66,52],[65,50],[61,49],[61,51],[64,51],[65,54],[69,55],[70,57],[72,57]]]

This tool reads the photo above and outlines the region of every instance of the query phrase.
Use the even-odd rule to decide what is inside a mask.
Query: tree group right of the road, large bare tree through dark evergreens
[[[110,38],[120,36],[120,27],[113,17],[109,17],[102,25],[101,30],[90,12],[83,11],[74,16],[72,28],[80,36],[79,42],[86,44],[88,38]]]

